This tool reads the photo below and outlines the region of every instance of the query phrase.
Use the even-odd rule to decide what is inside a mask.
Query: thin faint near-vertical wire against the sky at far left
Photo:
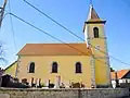
[[[9,0],[9,12],[11,13],[10,0]],[[12,30],[12,35],[13,35],[13,40],[14,40],[15,50],[17,50],[16,40],[15,40],[15,33],[14,33],[14,26],[13,26],[13,20],[12,20],[12,16],[11,16],[11,15],[10,15],[10,22],[11,22],[11,30]]]

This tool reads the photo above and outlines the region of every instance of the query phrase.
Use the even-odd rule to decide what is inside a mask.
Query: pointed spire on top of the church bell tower
[[[89,10],[89,15],[88,15],[87,21],[89,21],[89,20],[100,20],[100,16],[95,12],[92,3],[90,4],[90,10]]]

